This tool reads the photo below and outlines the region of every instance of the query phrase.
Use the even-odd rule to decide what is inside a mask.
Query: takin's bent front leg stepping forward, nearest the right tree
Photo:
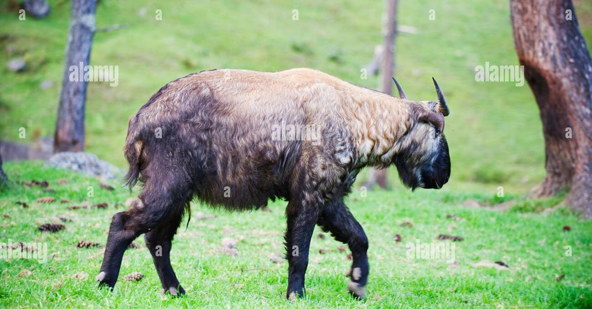
[[[368,281],[368,238],[362,226],[349,212],[343,201],[327,204],[318,217],[318,226],[330,232],[333,238],[347,243],[352,251],[352,268],[349,271],[351,281],[349,292],[358,298],[365,297],[365,285]]]

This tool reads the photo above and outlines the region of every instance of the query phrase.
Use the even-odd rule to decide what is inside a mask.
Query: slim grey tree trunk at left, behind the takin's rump
[[[87,82],[83,78],[84,71],[79,69],[89,64],[95,33],[95,9],[96,0],[72,0],[54,152],[84,150]]]

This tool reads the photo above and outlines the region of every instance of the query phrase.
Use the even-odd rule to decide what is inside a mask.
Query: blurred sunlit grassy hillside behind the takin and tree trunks
[[[435,99],[430,77],[448,96],[446,119],[452,181],[457,190],[494,193],[498,186],[522,193],[544,176],[538,109],[527,85],[477,83],[474,68],[486,61],[517,64],[507,1],[401,1],[402,25],[417,34],[397,38],[396,76],[413,99]],[[27,70],[0,66],[0,135],[18,139],[53,135],[63,72],[69,1],[51,1],[49,18],[18,19],[0,1],[0,63],[24,56]],[[577,2],[588,41],[592,6]],[[162,20],[156,20],[156,10]],[[292,20],[293,10],[298,20]],[[435,20],[429,10],[435,10]],[[86,149],[125,167],[121,149],[127,121],[170,80],[213,68],[262,71],[311,67],[349,82],[381,44],[383,2],[365,1],[101,1],[96,24],[129,24],[94,38],[91,63],[118,66],[119,84],[90,83],[86,109]],[[8,50],[12,49],[12,54]],[[54,82],[40,90],[44,80]],[[394,171],[393,171],[394,173]],[[395,177],[392,177],[393,179]]]

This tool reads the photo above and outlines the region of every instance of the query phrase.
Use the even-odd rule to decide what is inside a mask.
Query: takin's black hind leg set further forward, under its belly
[[[162,283],[163,293],[170,295],[185,294],[185,290],[179,284],[173,267],[170,265],[170,248],[173,237],[181,223],[182,213],[171,214],[163,223],[144,235],[154,266]]]

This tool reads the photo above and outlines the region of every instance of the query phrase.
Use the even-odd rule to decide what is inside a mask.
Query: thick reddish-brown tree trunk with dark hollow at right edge
[[[562,188],[592,216],[592,60],[571,0],[511,0],[514,44],[540,109],[546,178],[535,198]]]

